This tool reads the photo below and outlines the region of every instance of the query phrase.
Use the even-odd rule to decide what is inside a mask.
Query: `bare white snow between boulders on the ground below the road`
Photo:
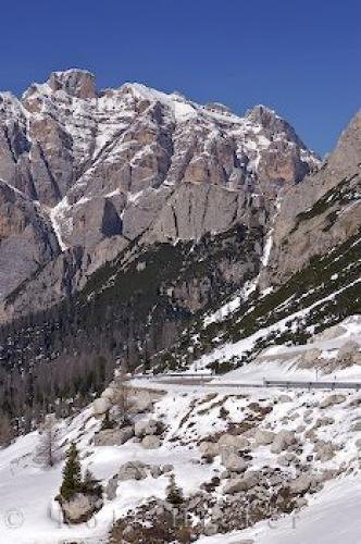
[[[155,417],[163,417],[169,428],[163,445],[159,449],[145,450],[139,444],[132,441],[123,446],[95,447],[89,445],[94,432],[99,426],[99,421],[91,417],[89,409],[75,418],[70,425],[64,425],[64,438],[67,441],[76,438],[83,454],[83,466],[90,467],[95,474],[105,481],[111,478],[121,465],[128,460],[138,459],[147,463],[172,463],[177,482],[184,489],[185,494],[192,493],[199,485],[210,480],[214,473],[221,470],[219,461],[213,465],[200,465],[197,441],[201,436],[221,431],[225,428],[225,421],[219,417],[220,406],[229,411],[233,421],[241,421],[247,412],[247,404],[258,401],[261,405],[270,405],[279,396],[277,391],[249,390],[245,396],[227,395],[224,392],[213,396],[209,392],[189,387],[187,393],[176,392],[175,385],[170,385],[169,393],[155,405]],[[264,424],[273,425],[275,430],[284,426],[285,418],[289,420],[287,425],[296,429],[304,418],[307,407],[312,407],[313,417],[324,413],[318,408],[319,403],[328,393],[325,392],[288,392],[288,403],[275,404],[273,411],[267,416]],[[343,462],[353,463],[357,458],[354,437],[350,428],[354,420],[360,417],[360,408],[350,408],[352,399],[360,397],[359,393],[348,393],[344,405],[327,409],[327,416],[335,419],[334,425],[320,430],[320,436],[332,440],[341,445],[337,457],[326,463],[323,468],[337,468]],[[361,433],[358,433],[361,435]],[[172,438],[172,440],[171,440]],[[174,440],[176,438],[176,440]],[[177,440],[182,441],[177,442]],[[11,447],[0,452],[0,542],[9,544],[54,544],[64,540],[82,539],[80,542],[100,544],[107,542],[105,535],[113,519],[124,515],[129,508],[139,505],[151,495],[164,497],[167,484],[166,477],[158,479],[147,478],[142,481],[122,482],[114,500],[105,500],[104,507],[97,514],[88,526],[80,524],[69,528],[57,522],[54,504],[52,497],[57,494],[61,482],[61,468],[58,466],[52,470],[43,470],[37,467],[32,457],[37,443],[36,433],[32,433],[16,441]],[[310,446],[304,447],[304,455],[310,453]],[[353,459],[353,460],[352,460]],[[275,456],[270,456],[266,448],[260,447],[253,456],[253,469],[261,468],[264,463],[277,466]],[[320,463],[319,463],[320,465]],[[316,469],[316,463],[315,463]],[[320,465],[321,469],[321,465]],[[348,520],[343,527],[336,522],[338,533],[332,532],[334,540],[325,540],[324,532],[316,531],[318,523],[326,523],[327,519],[334,519],[340,506],[343,519]],[[261,523],[250,529],[246,534],[260,544],[296,544],[308,543],[332,543],[339,544],[341,532],[346,531],[347,542],[357,544],[354,531],[360,529],[357,509],[361,506],[361,480],[360,473],[353,477],[340,478],[332,482],[327,489],[314,496],[311,505],[300,514],[295,530],[290,531],[291,517],[274,522],[270,529],[267,523]],[[52,508],[52,517],[49,512]],[[338,512],[338,520],[340,519]],[[316,528],[315,528],[316,526]],[[350,533],[350,531],[353,533]],[[350,535],[352,534],[352,537]],[[323,540],[315,540],[314,536]],[[244,536],[244,534],[241,534]],[[239,539],[239,535],[237,535]],[[338,537],[338,540],[337,540]],[[88,540],[89,539],[89,540]],[[215,539],[203,539],[202,543],[215,544],[220,542],[236,542],[236,535],[222,535]],[[228,540],[226,540],[228,539]],[[236,540],[235,540],[236,539]],[[288,539],[288,540],[287,540]],[[353,539],[353,540],[352,540]]]

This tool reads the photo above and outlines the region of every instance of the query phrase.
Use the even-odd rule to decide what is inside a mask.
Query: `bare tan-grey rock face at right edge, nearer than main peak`
[[[285,190],[263,271],[265,286],[282,284],[315,255],[325,255],[361,225],[361,112],[319,172]]]

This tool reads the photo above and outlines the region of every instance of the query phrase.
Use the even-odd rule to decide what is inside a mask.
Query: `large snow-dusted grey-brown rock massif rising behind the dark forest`
[[[29,206],[39,202],[61,249],[70,248],[40,272],[61,296],[69,277],[54,274],[74,264],[77,246],[84,250],[71,290],[139,236],[148,244],[241,223],[265,228],[279,187],[316,165],[294,129],[264,107],[240,118],[137,84],[97,92],[82,70],[54,72],[21,100],[0,94],[0,177]],[[20,245],[20,259],[22,251]]]

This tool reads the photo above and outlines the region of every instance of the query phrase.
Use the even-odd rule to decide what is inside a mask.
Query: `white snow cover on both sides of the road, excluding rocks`
[[[328,331],[307,346],[278,346],[262,354],[258,362],[226,374],[221,380],[234,383],[235,387],[225,391],[216,380],[207,387],[191,384],[151,383],[155,390],[163,390],[164,396],[155,404],[154,412],[145,415],[160,419],[166,425],[162,446],[147,450],[138,443],[129,441],[123,446],[96,447],[91,443],[100,421],[92,416],[91,407],[61,425],[63,449],[75,440],[82,454],[84,468],[89,467],[95,475],[107,481],[117,472],[121,465],[138,459],[150,465],[174,466],[174,472],[184,493],[190,494],[199,485],[217,474],[222,467],[215,460],[212,465],[200,463],[197,443],[214,433],[224,431],[227,421],[220,415],[220,407],[228,411],[229,421],[239,423],[247,413],[250,403],[272,406],[262,425],[274,432],[287,428],[295,430],[304,444],[302,456],[312,453],[312,443],[304,438],[304,431],[297,431],[302,425],[309,430],[318,418],[327,416],[334,423],[318,429],[318,436],[331,441],[337,446],[337,453],[327,462],[315,461],[314,470],[339,469],[343,475],[331,481],[326,487],[310,497],[309,506],[299,514],[292,526],[291,516],[276,520],[270,527],[266,522],[237,534],[203,537],[202,544],[236,543],[240,537],[251,537],[256,544],[361,544],[361,473],[360,453],[357,440],[361,431],[354,425],[361,421],[361,393],[343,392],[345,400],[326,410],[320,403],[329,392],[324,391],[277,391],[270,388],[244,387],[239,382],[261,382],[266,379],[314,380],[314,370],[299,369],[295,361],[299,353],[320,349],[323,357],[337,353],[349,339],[360,342],[360,320],[349,319],[341,327]],[[337,371],[337,380],[361,380],[361,367]],[[137,381],[140,387],[149,387],[149,382]],[[288,401],[278,401],[287,393]],[[141,391],[139,393],[141,395]],[[359,426],[358,426],[359,429]],[[158,479],[148,477],[141,481],[122,482],[113,500],[104,502],[103,508],[88,524],[67,527],[59,521],[57,503],[53,497],[61,483],[62,463],[54,469],[45,470],[33,460],[38,442],[37,433],[18,438],[10,447],[0,450],[0,543],[5,544],[57,544],[66,541],[101,544],[107,542],[107,534],[112,521],[124,515],[152,495],[164,497],[167,477]],[[65,443],[66,442],[66,443]],[[264,465],[277,467],[277,458],[267,447],[253,452],[252,468]],[[352,474],[347,475],[351,467]],[[222,490],[221,490],[222,493]]]

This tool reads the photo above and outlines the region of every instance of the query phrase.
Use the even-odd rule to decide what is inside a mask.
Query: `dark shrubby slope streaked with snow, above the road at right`
[[[361,308],[360,240],[357,234],[328,255],[313,258],[282,286],[260,292],[256,280],[249,292],[240,290],[196,320],[162,354],[161,368],[211,367],[225,372],[249,363],[267,346],[312,343],[315,334],[357,314]],[[356,327],[358,323],[356,320]],[[309,367],[314,371],[312,361]],[[320,362],[319,370],[321,367]],[[332,363],[324,363],[323,370],[332,372]]]

